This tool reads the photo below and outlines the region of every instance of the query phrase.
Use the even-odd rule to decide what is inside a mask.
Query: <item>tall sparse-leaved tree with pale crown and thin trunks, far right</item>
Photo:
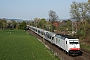
[[[85,25],[86,25],[86,20],[88,20],[87,17],[89,17],[89,11],[90,11],[90,8],[88,3],[86,2],[77,3],[75,1],[72,2],[70,14],[72,18],[76,19],[76,32],[78,29],[77,22],[81,22],[81,21],[83,23],[84,31],[86,30]]]

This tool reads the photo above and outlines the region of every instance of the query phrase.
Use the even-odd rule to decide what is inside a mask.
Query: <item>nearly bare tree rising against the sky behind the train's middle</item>
[[[58,16],[57,16],[57,14],[56,14],[56,12],[55,11],[53,11],[53,10],[50,10],[49,11],[49,21],[51,21],[51,23],[52,23],[52,32],[54,32],[54,25],[53,25],[53,23],[56,21],[58,19]]]

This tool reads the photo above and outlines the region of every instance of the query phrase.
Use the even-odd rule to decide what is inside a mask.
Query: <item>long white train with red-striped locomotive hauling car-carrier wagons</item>
[[[56,34],[34,26],[28,25],[28,28],[37,35],[43,37],[45,40],[49,41],[51,44],[54,44],[59,48],[63,49],[64,52],[69,56],[82,55],[79,39],[70,35]]]

